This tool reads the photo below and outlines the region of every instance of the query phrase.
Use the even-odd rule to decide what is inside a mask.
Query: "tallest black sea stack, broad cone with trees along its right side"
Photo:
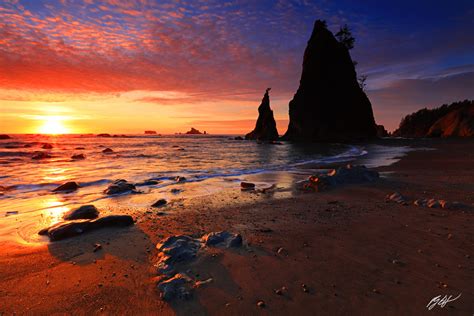
[[[323,21],[314,24],[289,114],[284,135],[287,140],[357,141],[376,137],[372,105],[357,82],[349,51]]]

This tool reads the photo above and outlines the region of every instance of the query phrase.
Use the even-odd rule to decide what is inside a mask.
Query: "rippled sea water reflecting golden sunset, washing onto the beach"
[[[43,149],[45,144],[52,149]],[[83,149],[80,149],[83,148]],[[111,148],[114,152],[104,154]],[[156,198],[189,198],[222,188],[238,187],[245,179],[261,187],[290,185],[326,164],[365,159],[370,166],[390,164],[407,147],[342,144],[257,144],[220,135],[14,135],[0,141],[0,240],[40,240],[36,232],[61,220],[78,205],[147,207]],[[33,160],[36,152],[51,158]],[[378,153],[378,154],[377,154]],[[73,160],[84,154],[86,159]],[[184,176],[185,183],[174,178]],[[143,194],[107,196],[104,189],[116,179],[137,183],[158,180],[157,185],[137,187]],[[52,192],[67,181],[81,188],[73,193]],[[172,193],[171,189],[180,189]]]

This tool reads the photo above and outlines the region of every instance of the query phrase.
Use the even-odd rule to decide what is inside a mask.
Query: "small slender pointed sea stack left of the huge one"
[[[262,103],[258,107],[258,118],[255,125],[255,129],[245,135],[245,139],[256,139],[256,140],[277,140],[278,131],[276,128],[275,118],[273,117],[273,111],[270,108],[270,96],[268,92],[270,88],[265,91]]]

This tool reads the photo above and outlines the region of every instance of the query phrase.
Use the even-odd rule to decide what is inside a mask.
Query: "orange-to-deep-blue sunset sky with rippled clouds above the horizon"
[[[241,134],[271,87],[283,134],[316,19],[388,130],[474,99],[472,0],[0,0],[0,132]]]

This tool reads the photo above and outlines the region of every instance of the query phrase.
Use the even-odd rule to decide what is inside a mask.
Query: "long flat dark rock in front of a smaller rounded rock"
[[[133,218],[130,215],[110,215],[94,220],[61,222],[40,230],[38,234],[48,236],[51,241],[58,241],[101,228],[130,225],[133,225]]]

